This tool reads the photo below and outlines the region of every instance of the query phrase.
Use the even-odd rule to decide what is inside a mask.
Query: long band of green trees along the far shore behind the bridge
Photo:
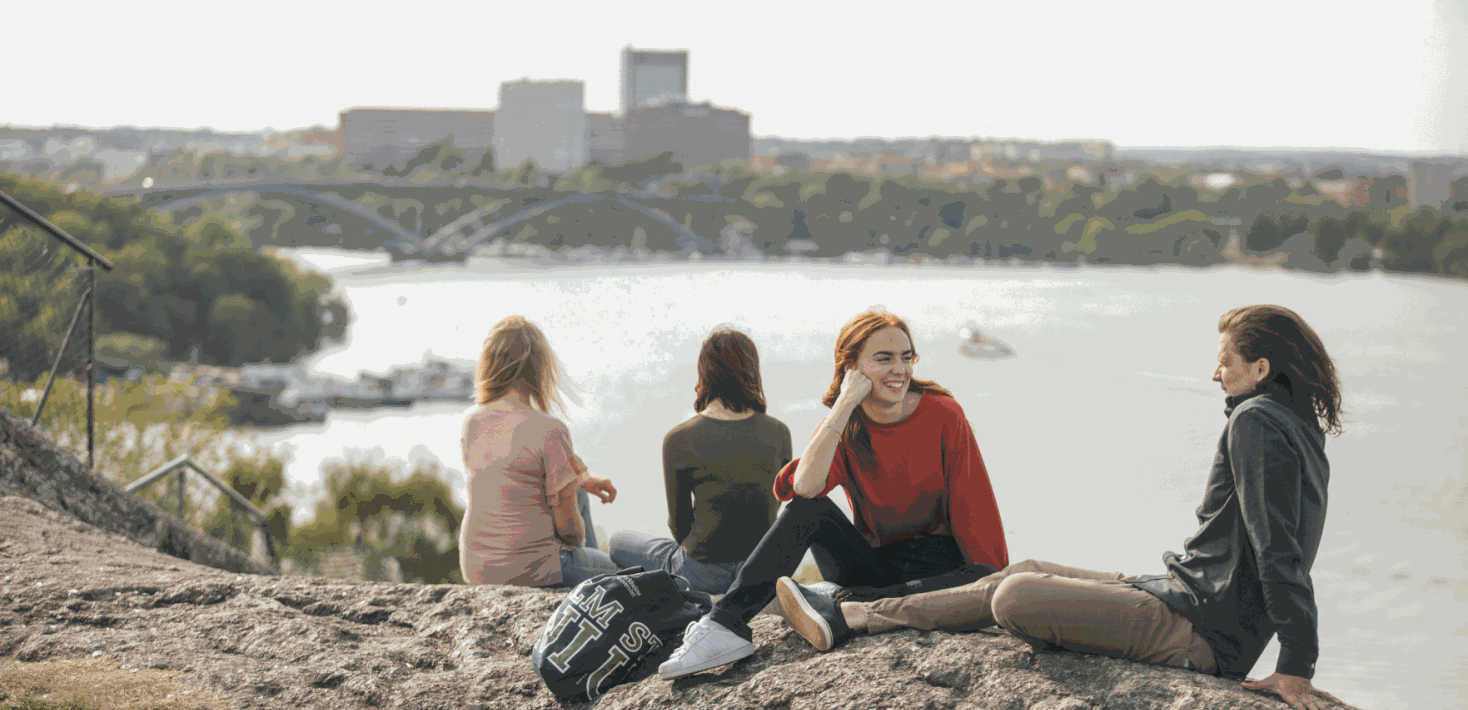
[[[451,198],[443,204],[386,195],[360,200],[424,233],[487,200],[518,204],[530,192],[534,194],[530,201],[542,200],[542,192],[545,198],[602,192],[662,210],[711,241],[718,241],[730,224],[746,224],[743,246],[774,255],[838,258],[885,249],[898,258],[1186,266],[1261,257],[1315,271],[1380,267],[1468,273],[1462,254],[1468,239],[1468,179],[1452,185],[1453,198],[1440,211],[1412,211],[1400,175],[1356,176],[1352,205],[1343,207],[1321,194],[1314,180],[1292,183],[1242,173],[1240,183],[1214,191],[1189,182],[1196,170],[1116,160],[1088,166],[1095,173],[1089,180],[1025,176],[979,185],[824,172],[775,176],[747,167],[683,166],[671,153],[615,166],[593,161],[559,176],[543,173],[531,160],[498,167],[493,151],[465,155],[448,136],[401,166],[383,166],[382,173],[417,183],[490,179],[492,185],[480,189],[483,200]],[[1120,176],[1130,179],[1119,180]],[[1318,180],[1346,178],[1340,169],[1315,175]],[[194,217],[204,214],[201,210]],[[376,248],[380,241],[339,227],[311,236],[321,227],[292,219],[286,229],[282,219],[267,214],[261,222],[270,222],[270,235],[261,235],[266,230],[261,226],[250,236],[269,244],[289,232],[292,244],[346,248]],[[1229,251],[1230,232],[1240,236],[1235,252]],[[567,205],[498,236],[549,249],[687,248],[678,242],[677,230],[609,202]]]

